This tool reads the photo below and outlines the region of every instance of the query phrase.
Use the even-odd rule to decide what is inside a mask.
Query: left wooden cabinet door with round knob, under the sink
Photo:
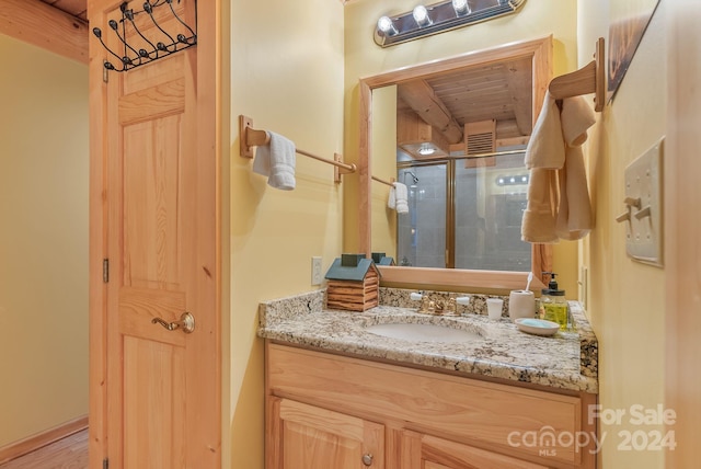
[[[268,398],[267,469],[384,468],[384,426]]]

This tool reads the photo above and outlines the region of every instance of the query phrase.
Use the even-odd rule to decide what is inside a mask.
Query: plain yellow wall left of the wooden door
[[[88,69],[0,57],[2,447],[88,413]]]

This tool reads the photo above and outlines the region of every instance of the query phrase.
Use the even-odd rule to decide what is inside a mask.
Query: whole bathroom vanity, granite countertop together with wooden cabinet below
[[[577,330],[543,338],[490,320],[480,296],[453,318],[380,295],[366,312],[325,310],[323,290],[261,305],[266,468],[596,467],[597,346],[577,304]],[[369,332],[394,323],[473,335]]]

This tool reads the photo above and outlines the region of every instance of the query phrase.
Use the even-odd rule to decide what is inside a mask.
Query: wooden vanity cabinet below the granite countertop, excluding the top
[[[266,469],[595,468],[596,396],[266,342]],[[543,445],[533,444],[533,438]]]

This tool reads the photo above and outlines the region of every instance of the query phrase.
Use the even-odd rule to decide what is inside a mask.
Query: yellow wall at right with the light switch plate
[[[579,48],[594,49],[607,37],[608,1],[582,5]],[[625,254],[624,169],[666,133],[666,32],[663,0],[613,101],[598,116],[588,146],[596,230],[583,243],[589,267],[588,312],[599,340],[599,402],[604,409],[630,411],[664,403],[665,270],[633,262]],[[599,13],[596,13],[599,11]],[[600,13],[604,12],[604,13]],[[662,468],[662,451],[619,450],[619,432],[662,430],[604,424],[604,468]]]

